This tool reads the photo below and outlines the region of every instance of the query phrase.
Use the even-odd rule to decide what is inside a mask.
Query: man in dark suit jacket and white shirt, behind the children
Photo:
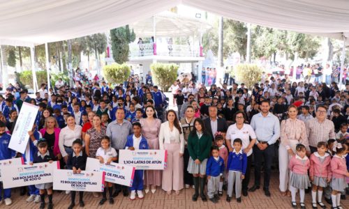
[[[216,106],[209,107],[209,118],[204,120],[205,127],[207,132],[212,137],[212,141],[214,141],[214,134],[216,132],[227,132],[228,125],[224,118],[217,117],[218,109]]]

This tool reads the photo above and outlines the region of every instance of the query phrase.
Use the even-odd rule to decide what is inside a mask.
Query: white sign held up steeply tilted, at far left
[[[23,102],[8,148],[24,153],[29,141],[28,132],[34,125],[38,110],[38,106]]]

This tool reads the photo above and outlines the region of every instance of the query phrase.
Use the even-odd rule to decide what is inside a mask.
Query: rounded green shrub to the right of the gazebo
[[[251,89],[255,83],[260,82],[262,78],[262,69],[255,64],[239,64],[235,67],[237,81],[244,83],[248,89]]]

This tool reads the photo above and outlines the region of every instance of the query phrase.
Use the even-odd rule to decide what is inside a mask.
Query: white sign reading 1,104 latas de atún
[[[166,168],[167,150],[119,150],[119,163],[136,170],[163,170]]]

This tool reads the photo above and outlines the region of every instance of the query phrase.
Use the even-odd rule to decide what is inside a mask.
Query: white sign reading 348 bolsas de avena
[[[53,171],[57,168],[59,168],[59,161],[3,167],[1,169],[3,188],[52,183]]]

